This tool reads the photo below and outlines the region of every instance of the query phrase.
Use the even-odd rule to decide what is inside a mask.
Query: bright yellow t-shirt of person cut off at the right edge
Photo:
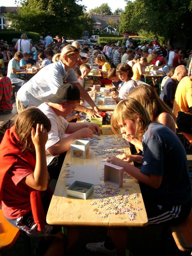
[[[177,116],[179,111],[188,113],[192,107],[192,80],[189,76],[181,79],[175,92],[175,100],[173,103],[173,114]]]

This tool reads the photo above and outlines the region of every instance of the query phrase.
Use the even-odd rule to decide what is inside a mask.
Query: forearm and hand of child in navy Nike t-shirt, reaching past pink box
[[[124,168],[124,171],[129,173],[133,178],[141,181],[142,183],[152,187],[159,188],[162,182],[162,175],[152,175],[140,172],[140,169],[127,163],[126,161],[119,159],[115,156],[109,156],[107,162],[110,164],[116,164]]]

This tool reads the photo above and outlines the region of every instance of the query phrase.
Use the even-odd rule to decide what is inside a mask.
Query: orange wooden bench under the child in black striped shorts
[[[186,220],[170,229],[177,247],[181,251],[192,251],[192,210]]]

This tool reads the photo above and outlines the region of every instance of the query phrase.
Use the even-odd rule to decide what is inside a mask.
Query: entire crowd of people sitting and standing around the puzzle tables
[[[37,255],[38,250],[41,255],[62,255],[61,227],[45,221],[52,196],[48,184],[58,179],[72,141],[100,134],[97,124],[74,122],[81,118],[79,112],[88,117],[101,113],[90,88],[84,88],[90,66],[100,71],[101,86],[115,85],[110,90],[118,103],[111,117],[113,132],[140,150],[137,155],[109,156],[107,162],[124,167],[140,182],[149,224],[186,219],[191,211],[191,183],[175,122],[179,111],[192,113],[192,51],[171,45],[164,49],[157,36],[147,45],[138,46],[125,37],[125,44],[118,41],[103,48],[96,44],[92,49],[77,41],[68,44],[64,37],[56,40],[50,32],[33,45],[26,34],[14,47],[1,40],[0,115],[12,111],[12,85],[19,87],[19,115],[0,144],[0,200],[6,219],[29,236],[43,236]],[[42,64],[34,76],[19,78],[17,72],[38,60]],[[149,65],[162,75],[160,97],[154,81],[144,82]],[[132,161],[140,168],[130,165]],[[77,230],[69,229],[68,246],[76,239]],[[117,251],[123,255],[125,246],[123,230],[108,230],[105,242],[87,244],[90,251],[108,255]]]

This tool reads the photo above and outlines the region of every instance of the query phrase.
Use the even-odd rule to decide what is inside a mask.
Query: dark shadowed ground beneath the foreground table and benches
[[[179,138],[183,138],[178,134]],[[192,150],[186,150],[190,172],[192,172]],[[55,181],[51,182],[51,187],[54,189]],[[165,252],[160,251],[162,225],[147,226],[145,228],[132,228],[132,253],[133,256],[189,256],[190,252],[181,252],[177,248],[172,235],[168,235],[166,241]],[[106,237],[106,230],[97,228],[82,228],[79,229],[79,238],[73,247],[69,250],[68,256],[99,256],[103,254],[94,254],[86,250],[85,245],[90,242],[101,242]],[[31,255],[33,256],[35,244],[39,239],[31,239]],[[2,251],[2,256],[25,256],[24,244],[22,239],[19,238],[11,249]]]

